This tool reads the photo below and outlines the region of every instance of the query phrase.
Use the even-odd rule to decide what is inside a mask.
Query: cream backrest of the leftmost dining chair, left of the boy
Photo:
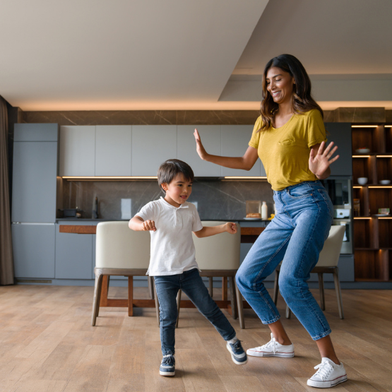
[[[149,232],[135,232],[128,222],[98,223],[95,267],[143,269],[149,263]]]

